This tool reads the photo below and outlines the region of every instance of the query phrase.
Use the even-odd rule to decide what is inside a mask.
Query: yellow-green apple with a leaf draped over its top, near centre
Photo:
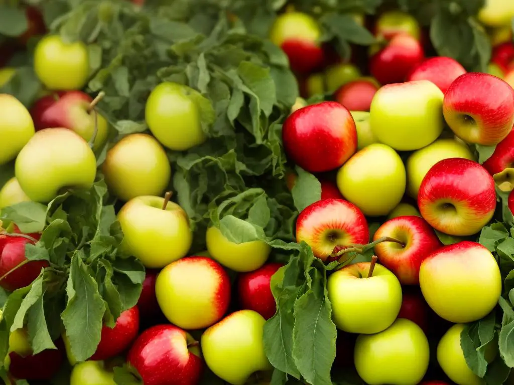
[[[216,261],[235,272],[252,272],[266,262],[271,246],[264,241],[235,243],[211,226],[206,234],[207,251]]]

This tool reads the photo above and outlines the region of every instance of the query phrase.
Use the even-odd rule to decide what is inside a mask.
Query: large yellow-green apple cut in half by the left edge
[[[12,161],[34,136],[29,111],[12,95],[0,93],[0,164]]]

